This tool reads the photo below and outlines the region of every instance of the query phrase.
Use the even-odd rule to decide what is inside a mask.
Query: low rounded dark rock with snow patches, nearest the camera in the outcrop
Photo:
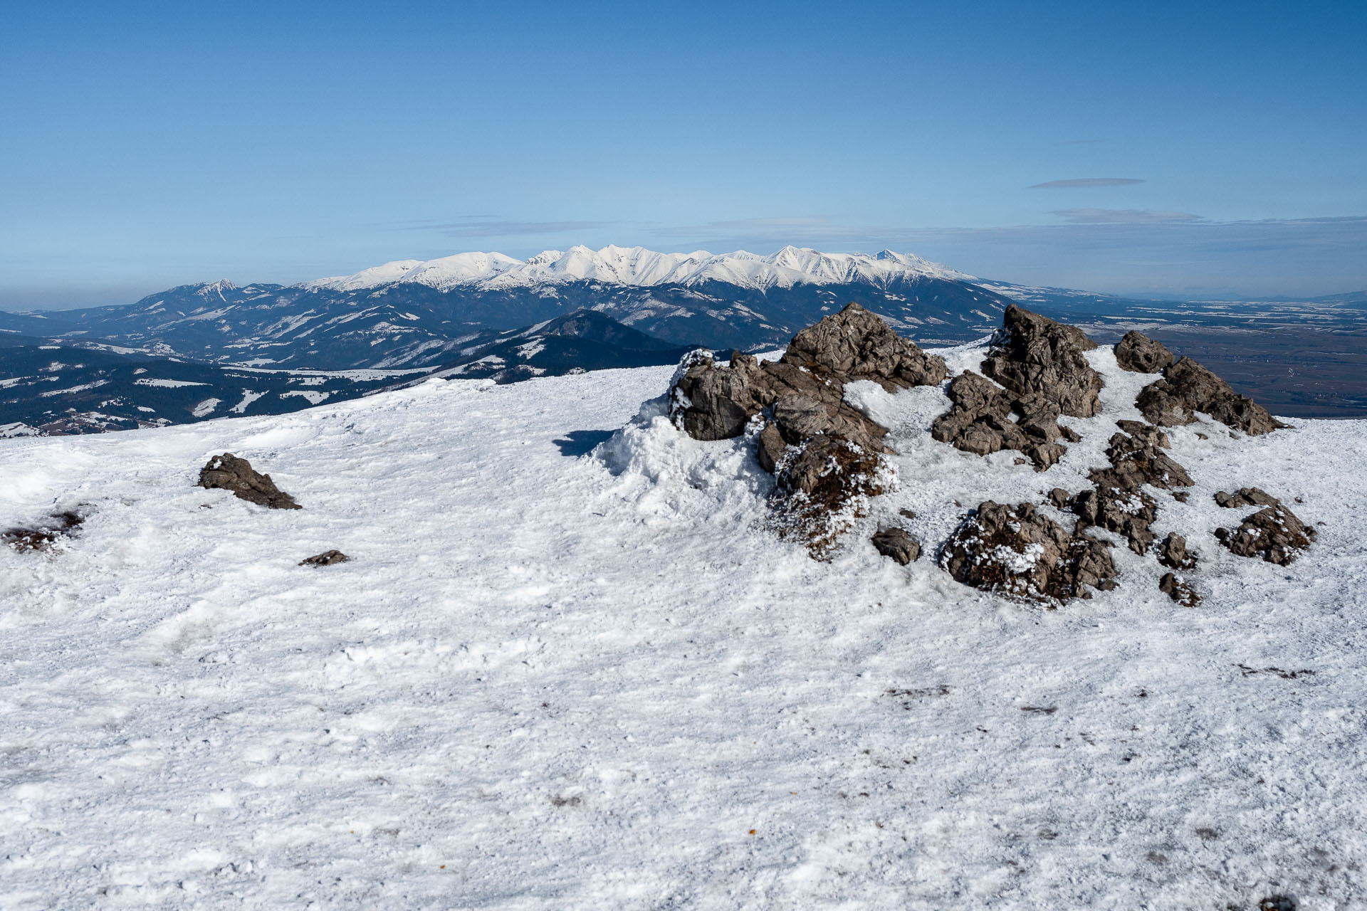
[[[1062,601],[1114,587],[1106,542],[1069,534],[1033,505],[979,504],[950,535],[939,564],[964,585],[1002,594]]]

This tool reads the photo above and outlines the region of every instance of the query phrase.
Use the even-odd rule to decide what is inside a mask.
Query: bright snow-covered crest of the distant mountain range
[[[416,281],[447,291],[462,285],[493,290],[592,280],[625,285],[726,281],[742,288],[767,290],[849,281],[886,285],[894,279],[913,277],[976,281],[973,276],[938,262],[891,250],[878,254],[820,253],[809,247],[787,246],[761,257],[745,250],[712,254],[707,250],[656,253],[645,247],[607,246],[591,250],[574,246],[567,251],[547,250],[525,261],[502,253],[458,253],[427,262],[399,260],[350,276],[305,281],[302,287],[360,291]]]

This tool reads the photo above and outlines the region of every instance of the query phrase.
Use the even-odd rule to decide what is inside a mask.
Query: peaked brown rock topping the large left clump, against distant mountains
[[[949,376],[942,358],[925,354],[857,303],[793,336],[782,362],[835,374],[842,382],[872,380],[889,392],[935,385]]]

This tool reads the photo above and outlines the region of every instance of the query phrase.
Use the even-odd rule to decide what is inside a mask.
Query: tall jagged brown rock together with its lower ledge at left
[[[1001,385],[972,370],[954,377],[947,389],[954,407],[935,419],[931,434],[977,455],[1017,449],[1036,471],[1047,470],[1068,451],[1059,438],[1077,441],[1058,426],[1058,415],[1085,418],[1100,408],[1100,377],[1081,355],[1095,347],[1080,329],[1009,307],[1002,344],[983,362]],[[1013,411],[1021,417],[1012,419]]]

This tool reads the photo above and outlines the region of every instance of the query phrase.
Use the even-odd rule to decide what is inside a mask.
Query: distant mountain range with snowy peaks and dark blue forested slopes
[[[571,247],[461,253],[293,285],[180,285],[133,305],[0,313],[0,331],[139,354],[288,369],[444,367],[489,333],[595,310],[671,346],[753,350],[857,302],[921,341],[991,332],[1002,285],[906,253],[767,257]],[[626,365],[622,365],[626,366]]]

